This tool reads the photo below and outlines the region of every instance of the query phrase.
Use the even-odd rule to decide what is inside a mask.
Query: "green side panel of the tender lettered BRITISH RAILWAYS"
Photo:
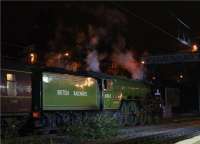
[[[91,77],[44,72],[43,110],[99,109],[97,81]]]

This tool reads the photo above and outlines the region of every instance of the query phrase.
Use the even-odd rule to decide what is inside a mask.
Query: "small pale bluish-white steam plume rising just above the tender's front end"
[[[98,54],[97,54],[96,50],[88,53],[88,55],[86,57],[86,62],[87,62],[87,66],[88,66],[87,70],[94,71],[94,72],[100,72],[99,59],[98,59]]]

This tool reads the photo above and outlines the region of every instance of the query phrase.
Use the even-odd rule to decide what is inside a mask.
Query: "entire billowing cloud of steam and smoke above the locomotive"
[[[73,4],[66,7],[66,9],[70,8],[76,10],[77,13],[77,5],[75,6],[76,9],[73,8]],[[100,72],[101,60],[112,60],[112,62],[130,72],[133,79],[142,79],[144,66],[133,57],[131,51],[127,51],[126,39],[122,34],[127,24],[126,16],[117,9],[107,8],[104,5],[96,7],[80,6],[79,13],[80,15],[90,15],[90,20],[86,19],[84,23],[67,26],[63,21],[58,21],[54,38],[49,40],[50,48],[52,50],[70,49],[71,44],[75,43],[73,47],[78,49],[74,50],[74,53],[85,53],[86,70]],[[70,12],[70,14],[73,14],[73,12]],[[96,23],[91,22],[91,19]],[[82,62],[81,60],[80,63]],[[54,65],[67,68],[67,63],[61,60],[59,52],[51,56],[48,55],[46,64],[47,66]]]

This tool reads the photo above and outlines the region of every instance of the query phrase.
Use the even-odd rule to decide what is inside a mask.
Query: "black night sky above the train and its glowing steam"
[[[123,45],[123,40],[126,46],[119,49],[133,50],[137,56],[188,51],[176,39],[178,30],[198,43],[199,11],[199,2],[2,2],[2,56],[23,57],[23,47],[30,45],[41,57],[65,49],[84,55],[84,49],[74,46],[79,32],[86,34],[84,42],[90,39],[88,24],[106,29],[106,36],[95,47],[99,53],[111,53],[111,44]],[[179,67],[182,71],[185,65]]]

